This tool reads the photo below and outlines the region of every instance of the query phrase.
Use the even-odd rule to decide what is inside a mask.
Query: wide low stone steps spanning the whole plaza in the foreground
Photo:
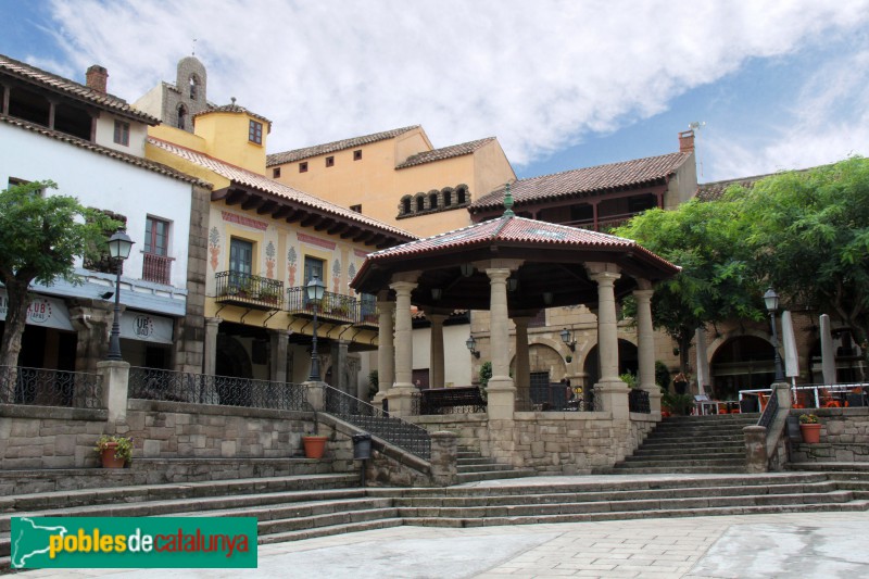
[[[445,489],[368,488],[356,474],[263,477],[7,495],[14,516],[255,516],[261,544],[417,525],[477,527],[869,509],[869,473],[543,477]]]

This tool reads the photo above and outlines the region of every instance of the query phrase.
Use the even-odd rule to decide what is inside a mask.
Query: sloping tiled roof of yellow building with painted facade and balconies
[[[294,189],[288,185],[273,181],[272,179],[264,177],[263,175],[259,175],[256,173],[238,167],[236,165],[218,161],[213,156],[200,153],[198,151],[193,151],[192,149],[179,147],[175,143],[164,141],[162,139],[156,139],[154,137],[148,137],[148,142],[153,144],[154,147],[159,147],[165,151],[168,151],[174,155],[177,155],[191,163],[200,165],[201,167],[213,171],[214,173],[236,184],[243,185],[273,196],[282,197],[290,201],[294,201],[301,205],[305,205],[325,213],[329,213],[331,215],[342,217],[349,222],[361,223],[369,227],[375,227],[380,230],[388,231],[393,236],[398,236],[404,239],[416,239],[415,235],[410,234],[403,229],[399,229],[398,227],[393,227],[389,224],[379,222],[377,219],[371,219],[370,217],[366,217],[365,215],[356,213],[355,211],[352,211],[348,207],[342,207],[341,205],[329,203],[328,201],[324,201],[312,194],[300,191],[299,189]]]

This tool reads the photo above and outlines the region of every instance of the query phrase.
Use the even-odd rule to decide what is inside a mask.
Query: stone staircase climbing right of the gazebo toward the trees
[[[742,429],[759,414],[675,416],[662,420],[642,445],[601,474],[723,474],[745,471]]]

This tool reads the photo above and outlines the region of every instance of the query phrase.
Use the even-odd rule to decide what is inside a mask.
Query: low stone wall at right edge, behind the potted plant
[[[807,411],[792,411],[798,416]],[[792,463],[869,462],[869,407],[813,408],[821,424],[820,443],[791,445]]]

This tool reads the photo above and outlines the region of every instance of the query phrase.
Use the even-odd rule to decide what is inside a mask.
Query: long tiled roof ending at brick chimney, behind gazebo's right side
[[[590,197],[596,192],[624,187],[653,184],[666,179],[691,156],[691,153],[669,153],[660,156],[634,159],[621,163],[599,165],[519,179],[511,185],[515,206],[567,197]],[[471,213],[498,209],[504,204],[504,189],[500,188],[470,204]]]

